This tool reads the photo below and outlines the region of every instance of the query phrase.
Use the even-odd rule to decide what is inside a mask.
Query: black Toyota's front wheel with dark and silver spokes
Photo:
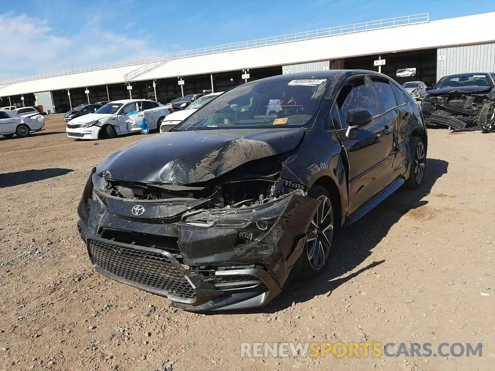
[[[311,220],[306,233],[306,241],[301,252],[299,277],[312,278],[320,273],[329,261],[330,250],[334,238],[335,207],[327,189],[314,185],[308,197],[321,200],[321,205]]]

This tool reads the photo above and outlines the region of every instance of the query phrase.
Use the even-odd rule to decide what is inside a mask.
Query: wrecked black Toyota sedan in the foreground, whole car
[[[340,227],[421,185],[426,149],[418,105],[385,75],[253,81],[108,156],[78,227],[107,277],[190,311],[259,307],[325,269]]]

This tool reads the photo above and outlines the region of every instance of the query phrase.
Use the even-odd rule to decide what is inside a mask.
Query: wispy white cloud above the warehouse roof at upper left
[[[149,37],[106,30],[99,17],[66,35],[46,20],[4,13],[0,14],[0,39],[0,81],[164,53],[152,46]]]

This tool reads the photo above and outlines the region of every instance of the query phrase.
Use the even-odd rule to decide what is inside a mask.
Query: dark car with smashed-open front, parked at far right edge
[[[495,132],[494,87],[489,73],[444,76],[421,103],[426,124],[452,131]]]

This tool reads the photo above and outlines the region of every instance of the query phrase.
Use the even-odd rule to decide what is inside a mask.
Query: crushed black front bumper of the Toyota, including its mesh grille
[[[292,193],[266,208],[204,210],[166,223],[116,213],[137,202],[88,199],[81,200],[78,229],[99,273],[165,296],[181,309],[236,310],[263,306],[281,291],[319,203]],[[260,221],[268,227],[256,232]],[[241,231],[250,231],[252,240],[240,241]]]

